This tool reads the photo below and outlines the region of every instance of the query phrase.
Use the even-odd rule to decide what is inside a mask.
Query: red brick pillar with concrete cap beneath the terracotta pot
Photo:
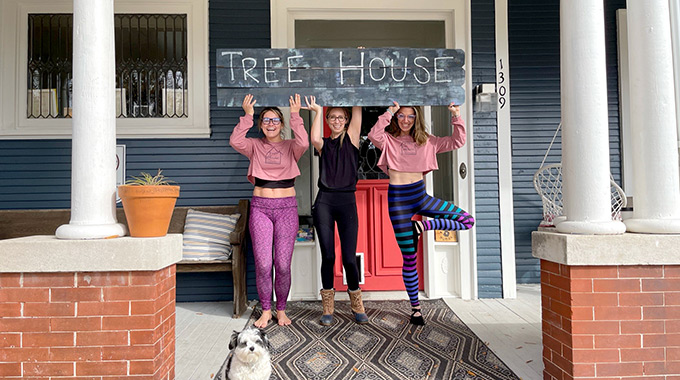
[[[173,380],[182,236],[0,240],[0,379]]]

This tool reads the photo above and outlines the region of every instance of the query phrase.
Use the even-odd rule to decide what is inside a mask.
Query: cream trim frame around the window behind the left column
[[[189,103],[187,118],[116,121],[118,138],[206,138],[210,136],[208,2],[206,0],[116,0],[116,13],[187,15]],[[72,0],[0,2],[0,139],[71,137],[71,119],[27,117],[28,14],[72,13]],[[112,52],[113,53],[113,52]],[[11,101],[8,101],[10,100]],[[76,111],[77,112],[77,111]]]

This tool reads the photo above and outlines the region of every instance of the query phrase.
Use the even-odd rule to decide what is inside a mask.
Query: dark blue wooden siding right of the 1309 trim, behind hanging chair
[[[609,146],[617,182],[621,154],[615,12],[625,6],[625,0],[605,1]],[[542,219],[542,206],[533,175],[560,122],[559,0],[510,1],[508,13],[517,282],[538,283],[540,268],[531,256],[531,232]],[[560,162],[560,141],[558,135],[546,163]]]

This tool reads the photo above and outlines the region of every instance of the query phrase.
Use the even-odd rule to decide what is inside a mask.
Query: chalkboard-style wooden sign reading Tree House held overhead
[[[464,63],[459,49],[218,49],[217,105],[253,94],[258,106],[288,106],[295,93],[322,106],[462,104]]]

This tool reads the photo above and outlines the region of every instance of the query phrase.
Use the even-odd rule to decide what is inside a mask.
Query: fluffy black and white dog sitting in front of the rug
[[[248,327],[234,331],[229,342],[229,358],[219,373],[226,380],[268,380],[272,373],[271,345],[264,330]],[[216,377],[218,378],[218,377]]]

